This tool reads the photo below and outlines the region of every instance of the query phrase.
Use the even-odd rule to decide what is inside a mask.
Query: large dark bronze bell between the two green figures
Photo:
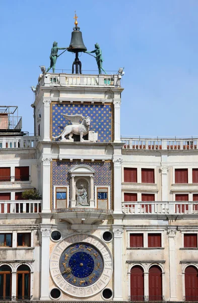
[[[83,42],[82,32],[79,29],[80,27],[74,27],[68,52],[79,53],[87,51],[87,48]]]

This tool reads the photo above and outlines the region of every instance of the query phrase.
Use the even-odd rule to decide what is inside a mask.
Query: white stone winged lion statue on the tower
[[[83,117],[82,115],[65,115],[62,114],[66,120],[70,120],[72,124],[65,126],[62,133],[57,137],[52,137],[54,139],[58,139],[61,137],[60,141],[65,141],[65,136],[69,135],[69,141],[74,141],[72,138],[73,134],[80,135],[80,141],[85,141],[83,139],[83,136],[87,135],[90,129],[90,117]],[[80,123],[80,120],[83,119],[82,123]],[[87,140],[86,140],[87,141]]]

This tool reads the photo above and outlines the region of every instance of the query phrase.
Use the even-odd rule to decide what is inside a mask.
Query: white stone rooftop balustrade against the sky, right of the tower
[[[133,150],[192,150],[198,149],[198,138],[121,138],[123,149]]]

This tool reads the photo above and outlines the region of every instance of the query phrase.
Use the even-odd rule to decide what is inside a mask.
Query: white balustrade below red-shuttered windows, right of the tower
[[[122,202],[122,212],[127,215],[198,214],[198,201]]]

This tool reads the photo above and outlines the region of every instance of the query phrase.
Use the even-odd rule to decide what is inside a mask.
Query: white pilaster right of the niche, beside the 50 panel
[[[122,214],[122,197],[121,197],[121,164],[122,159],[113,159],[114,166],[114,214]]]

